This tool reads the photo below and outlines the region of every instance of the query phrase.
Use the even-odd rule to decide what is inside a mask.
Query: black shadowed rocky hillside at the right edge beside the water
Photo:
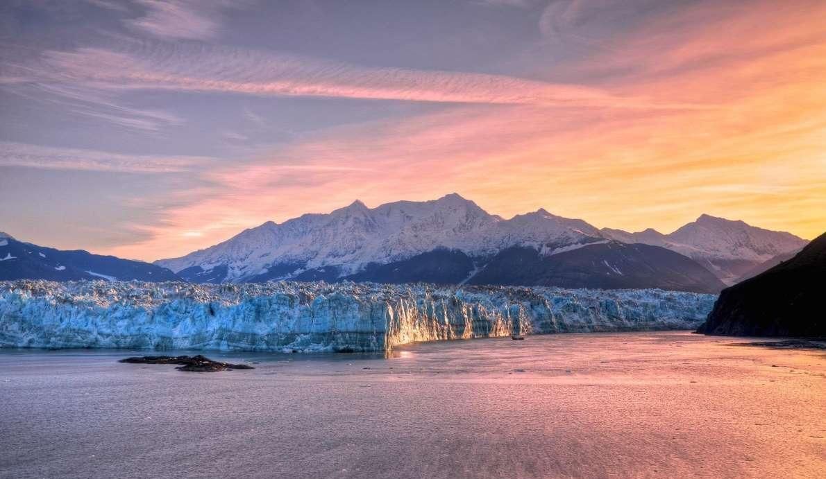
[[[697,332],[826,337],[826,233],[761,275],[724,289]]]

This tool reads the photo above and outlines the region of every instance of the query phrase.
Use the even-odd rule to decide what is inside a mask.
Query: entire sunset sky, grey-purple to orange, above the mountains
[[[826,2],[0,2],[0,231],[154,261],[457,192],[826,230]]]

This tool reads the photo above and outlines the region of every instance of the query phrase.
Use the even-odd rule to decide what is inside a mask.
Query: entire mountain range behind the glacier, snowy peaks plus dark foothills
[[[598,229],[544,209],[506,219],[451,194],[373,209],[355,201],[267,222],[155,265],[198,283],[351,279],[716,293],[806,243],[705,214],[669,234]]]

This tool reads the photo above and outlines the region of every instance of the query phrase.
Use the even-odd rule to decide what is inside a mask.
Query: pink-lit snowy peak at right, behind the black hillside
[[[617,241],[665,247],[689,256],[725,284],[734,284],[757,265],[775,256],[799,251],[807,244],[806,240],[788,232],[757,228],[743,221],[708,214],[669,234],[650,228],[634,233],[603,228],[601,232]]]

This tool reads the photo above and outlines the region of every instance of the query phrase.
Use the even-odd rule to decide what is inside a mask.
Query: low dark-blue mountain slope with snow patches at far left
[[[0,232],[0,280],[6,279],[173,281],[180,278],[151,263],[93,255],[88,251],[39,247]]]

